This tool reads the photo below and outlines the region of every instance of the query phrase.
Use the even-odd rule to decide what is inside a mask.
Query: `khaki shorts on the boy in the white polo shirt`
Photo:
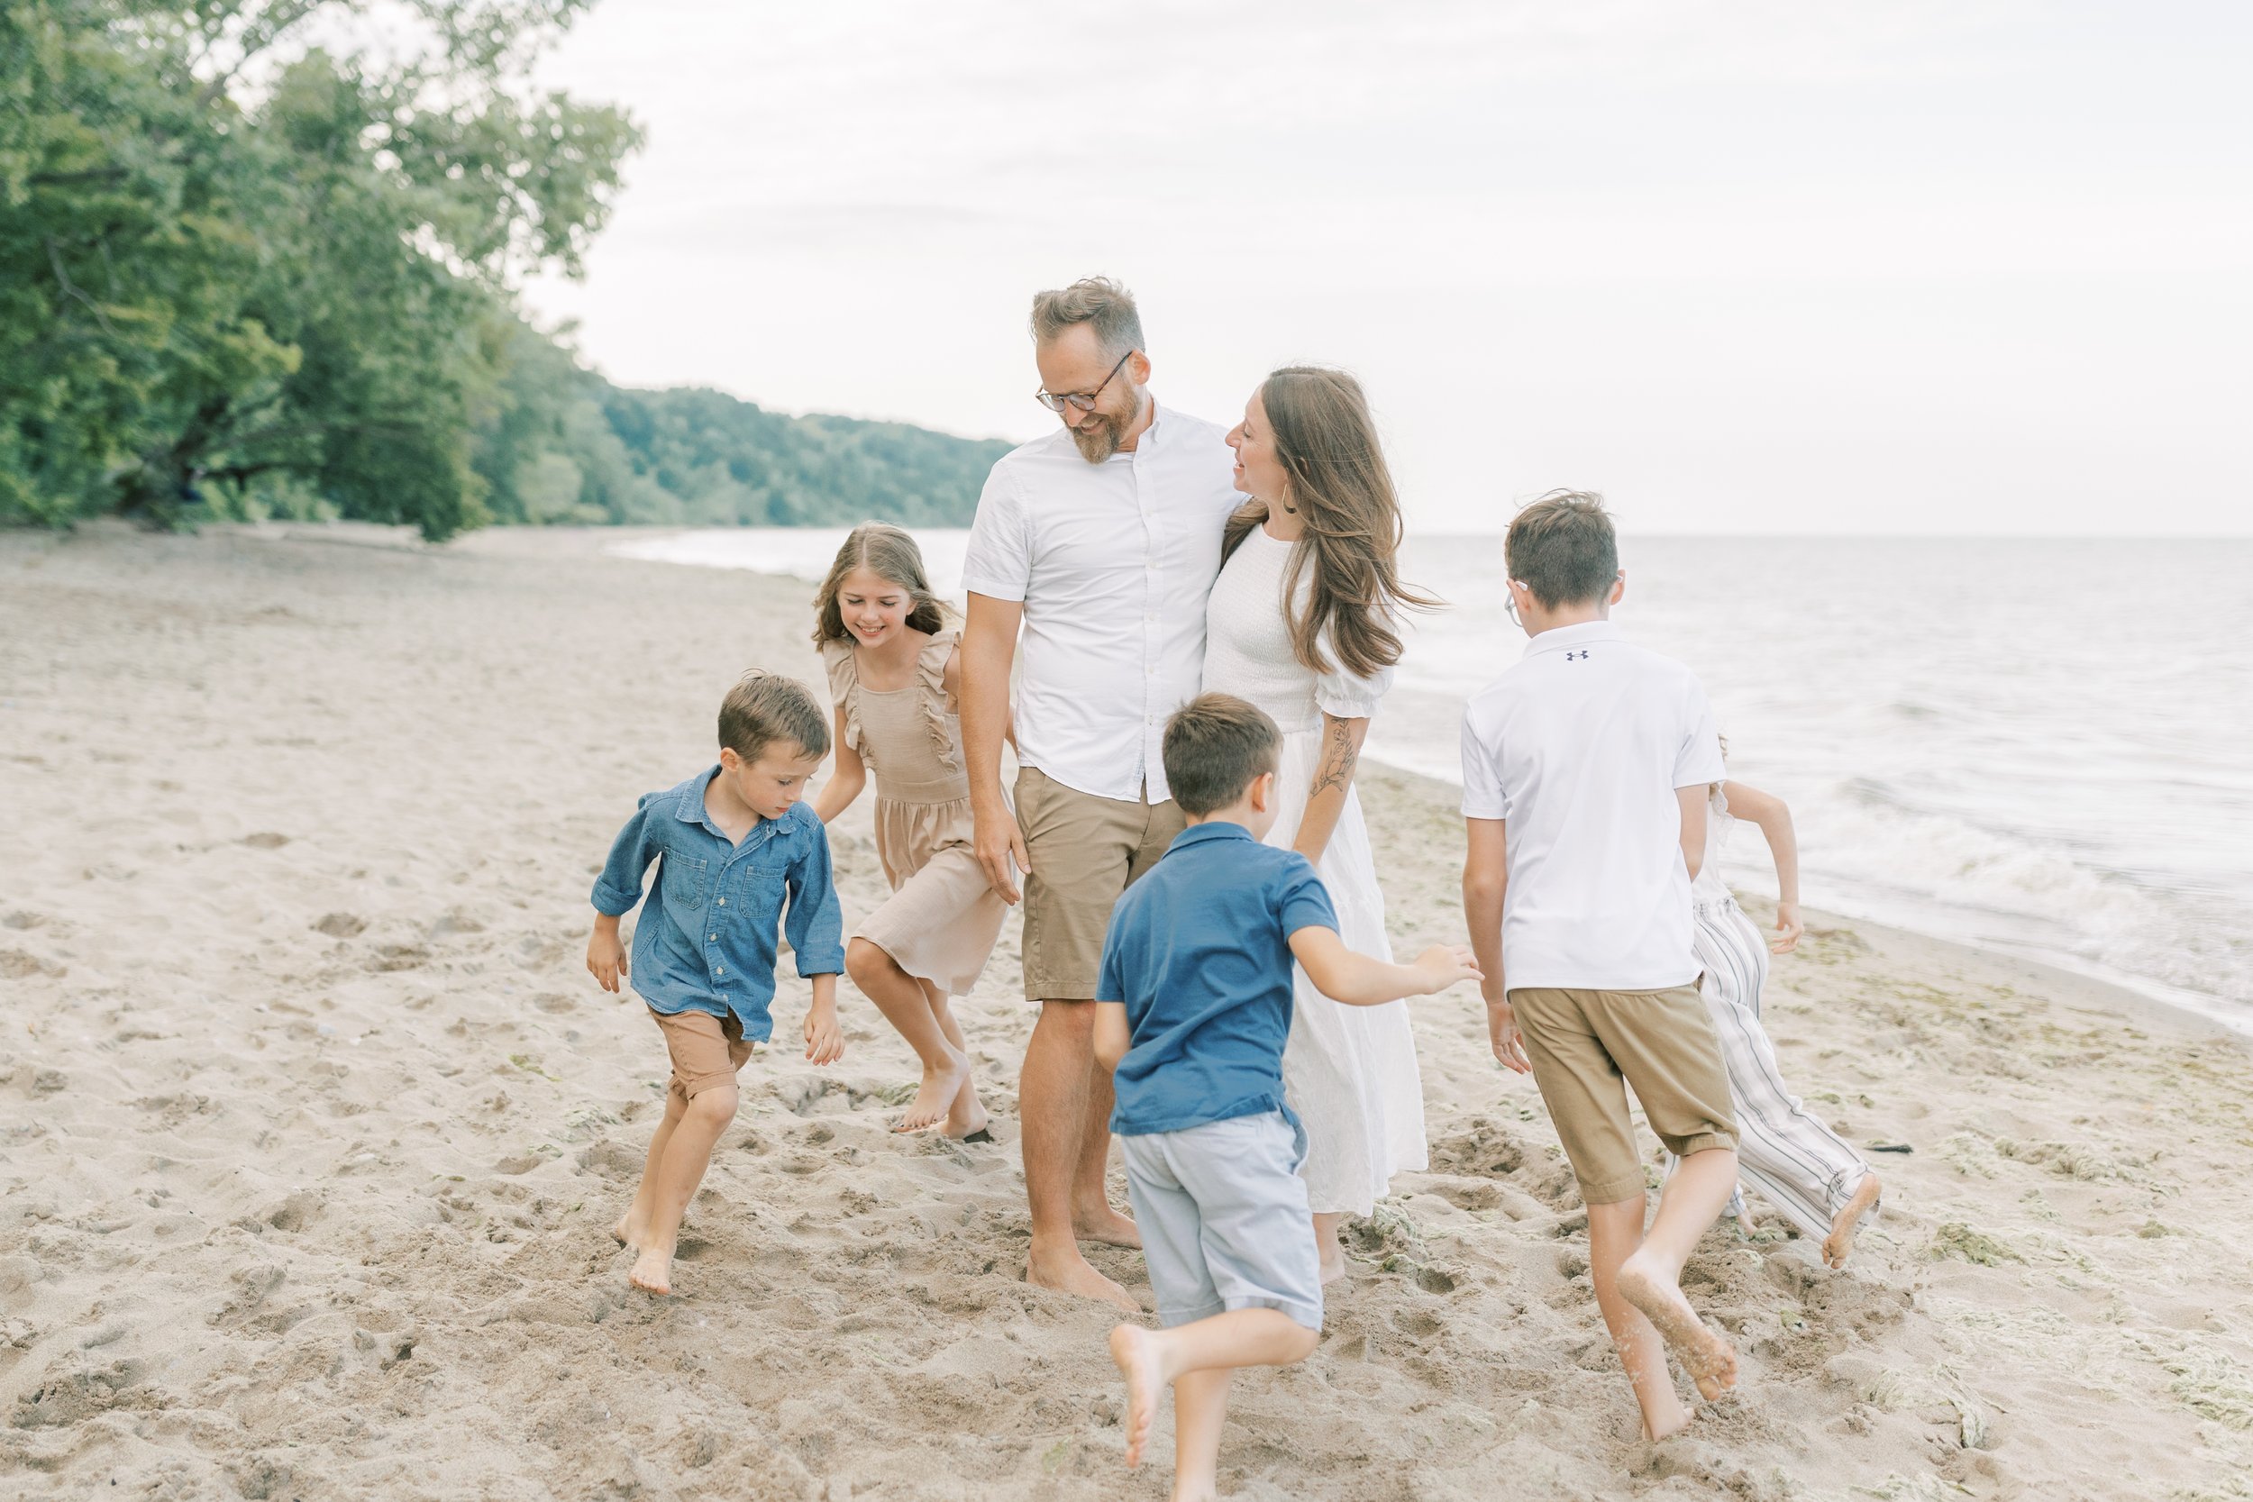
[[[1588,1205],[1642,1198],[1627,1085],[1676,1157],[1735,1148],[1728,1067],[1697,986],[1510,993],[1525,1056]],[[1622,1083],[1624,1081],[1624,1083]]]

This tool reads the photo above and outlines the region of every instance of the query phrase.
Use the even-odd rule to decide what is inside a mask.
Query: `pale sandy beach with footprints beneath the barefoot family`
[[[1014,921],[960,1009],[1000,1144],[892,1135],[912,1054],[845,986],[804,1065],[784,980],[680,1297],[626,1290],[665,1052],[586,889],[737,671],[820,671],[807,585],[606,540],[0,536],[7,1495],[1165,1495],[1111,1317],[1021,1281]],[[1395,944],[1460,939],[1449,788],[1363,795]],[[834,842],[852,919],[867,799]],[[2253,1497],[2242,1038],[1816,917],[1784,1067],[1911,1151],[1845,1272],[1773,1214],[1706,1239],[1742,1396],[1649,1446],[1539,1094],[1476,993],[1415,1007],[1433,1171],[1354,1223],[1320,1351],[1239,1378],[1232,1495]]]

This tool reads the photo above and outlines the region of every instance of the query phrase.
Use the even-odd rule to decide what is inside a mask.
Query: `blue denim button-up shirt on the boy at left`
[[[732,1011],[746,1038],[764,1040],[775,1031],[777,921],[807,977],[845,968],[845,919],[829,880],[829,831],[813,808],[795,804],[780,820],[759,820],[732,844],[703,806],[716,775],[712,766],[642,797],[611,842],[593,901],[595,912],[626,917],[656,860],[626,980],[653,1011]]]

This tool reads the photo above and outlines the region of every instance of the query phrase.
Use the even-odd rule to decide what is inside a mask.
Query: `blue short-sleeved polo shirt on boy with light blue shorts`
[[[1111,910],[1095,1000],[1126,1004],[1111,1130],[1181,1133],[1289,1110],[1291,935],[1338,928],[1298,851],[1241,824],[1192,824]]]

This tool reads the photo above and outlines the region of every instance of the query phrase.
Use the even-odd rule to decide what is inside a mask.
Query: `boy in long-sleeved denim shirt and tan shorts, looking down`
[[[595,878],[595,937],[586,946],[586,968],[604,991],[617,991],[629,973],[617,919],[642,901],[642,874],[656,860],[631,973],[674,1074],[642,1187],[611,1232],[635,1254],[629,1281],[649,1293],[671,1293],[680,1214],[734,1119],[737,1070],[775,1031],[777,921],[798,973],[813,982],[807,1058],[845,1056],[836,1013],[845,926],[829,880],[829,835],[798,802],[829,754],[829,716],[795,678],[750,671],[719,707],[719,766],[647,795],[617,831]]]

